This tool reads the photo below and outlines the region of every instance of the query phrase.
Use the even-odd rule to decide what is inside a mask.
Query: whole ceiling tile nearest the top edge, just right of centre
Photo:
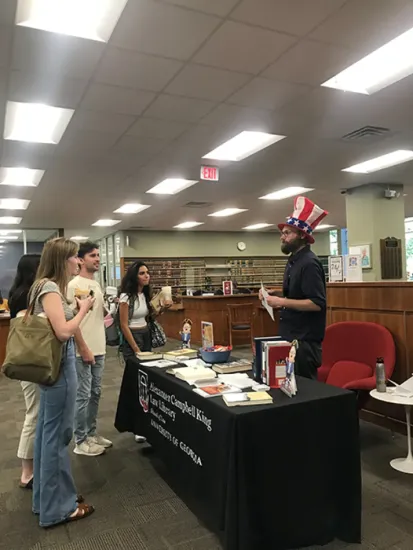
[[[227,21],[195,56],[195,61],[222,69],[258,74],[296,40],[242,23]]]

